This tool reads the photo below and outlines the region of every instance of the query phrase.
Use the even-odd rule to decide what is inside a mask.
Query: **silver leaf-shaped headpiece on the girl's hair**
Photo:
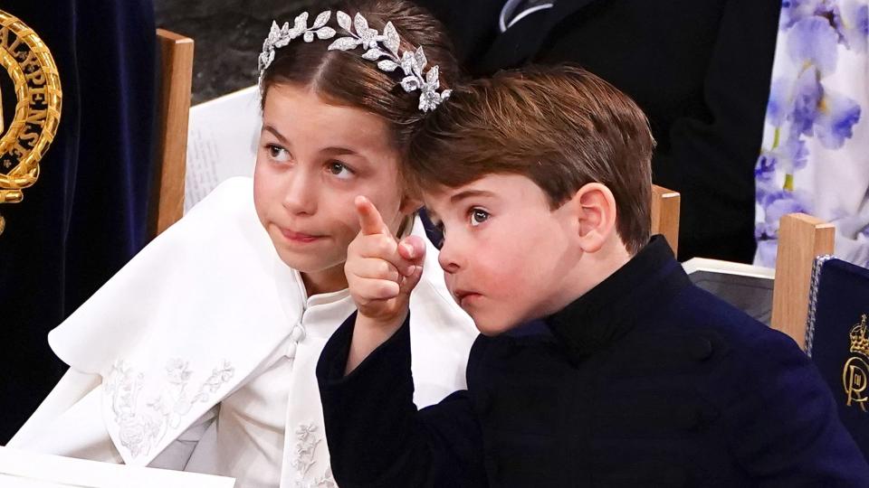
[[[425,70],[428,61],[425,59],[422,46],[417,47],[413,52],[405,51],[399,55],[398,46],[401,42],[392,22],[387,22],[383,28],[383,33],[378,33],[377,29],[368,27],[368,21],[362,14],[356,14],[352,20],[348,14],[340,11],[335,16],[338,19],[339,27],[348,35],[339,37],[329,44],[329,51],[352,51],[361,46],[365,50],[362,59],[377,61],[377,69],[392,72],[400,68],[405,74],[400,83],[401,88],[408,93],[420,91],[419,109],[424,112],[435,109],[442,101],[450,97],[452,90],[438,91],[440,88],[438,67],[433,66],[429,70]],[[279,27],[278,23],[272,21],[272,29],[263,42],[263,52],[260,53],[259,57],[261,89],[263,73],[274,61],[276,49],[286,46],[300,36],[304,42],[313,42],[315,38],[325,40],[335,37],[335,29],[326,25],[329,23],[330,17],[330,11],[322,12],[317,15],[310,27],[308,26],[307,12],[297,16],[292,27],[288,22]],[[356,32],[354,33],[354,31]]]

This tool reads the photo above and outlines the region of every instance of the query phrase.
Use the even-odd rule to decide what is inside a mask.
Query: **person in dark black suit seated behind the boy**
[[[630,95],[657,141],[654,183],[682,193],[679,258],[751,262],[781,2],[417,1],[474,75],[573,62]]]

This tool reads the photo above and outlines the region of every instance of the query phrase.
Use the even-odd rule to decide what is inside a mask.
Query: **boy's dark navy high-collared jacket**
[[[361,486],[869,486],[815,366],[693,286],[655,237],[539,330],[481,336],[468,389],[417,411],[408,327],[317,375],[332,471]]]

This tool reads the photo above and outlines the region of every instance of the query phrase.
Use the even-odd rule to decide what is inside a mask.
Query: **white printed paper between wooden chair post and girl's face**
[[[256,86],[190,108],[184,211],[225,179],[253,175],[261,124]]]

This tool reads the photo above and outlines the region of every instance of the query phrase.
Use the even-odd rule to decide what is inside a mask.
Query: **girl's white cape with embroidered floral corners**
[[[418,220],[414,232],[422,233]],[[437,250],[429,244],[426,252],[411,297],[420,407],[464,388],[476,337],[444,286]],[[252,380],[301,324],[305,300],[299,273],[278,258],[256,218],[252,180],[228,180],[49,334],[70,371],[9,446],[181,469],[216,428],[219,402]],[[297,426],[322,426],[315,366],[345,313],[295,345],[287,436]],[[322,445],[316,464],[328,467]],[[288,469],[282,486],[320,485],[314,473]],[[326,479],[328,470],[316,475]]]

